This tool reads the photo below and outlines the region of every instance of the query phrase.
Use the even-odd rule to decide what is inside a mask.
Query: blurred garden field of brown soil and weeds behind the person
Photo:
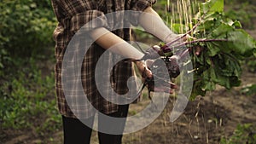
[[[27,1],[26,3],[31,2]],[[35,2],[38,3],[37,1]],[[225,9],[231,9],[228,13],[229,16],[241,20],[242,26],[256,39],[256,27],[254,27],[256,23],[256,3],[250,0],[233,7],[231,5],[234,4],[233,2],[236,4],[241,3],[240,0],[227,3]],[[49,4],[49,1],[45,1],[42,5],[47,5],[45,3]],[[160,0],[159,3],[166,3],[166,1]],[[31,7],[34,8],[34,6]],[[22,8],[21,11],[17,11],[17,13],[23,14],[25,12],[28,14],[26,7],[20,8]],[[41,9],[39,4],[38,8]],[[51,9],[49,6],[47,8]],[[160,5],[156,6],[160,14],[165,14],[161,8]],[[48,13],[44,10],[40,11],[40,13],[37,12],[37,14],[52,16],[51,14],[47,15]],[[29,17],[25,16],[25,18]],[[10,18],[10,20],[12,19],[15,18]],[[51,20],[52,18],[49,19]],[[52,39],[45,40],[51,35],[55,20],[49,23],[46,23],[44,19],[38,20],[43,20],[43,22],[39,22],[43,28],[40,27],[41,25],[38,26],[38,23],[35,27],[28,25],[31,29],[27,32],[35,29],[39,33],[45,31],[48,33],[46,32],[47,34],[45,35],[40,33],[38,34],[39,36],[31,34],[29,37],[23,37],[25,39],[20,41],[26,42],[26,38],[40,37],[41,40],[43,39],[44,48],[47,47],[49,49],[33,49],[32,55],[27,55],[26,50],[22,53],[22,49],[26,49],[26,47],[32,49],[40,42],[40,40],[34,40],[34,43],[32,43],[31,40],[29,41],[31,43],[10,43],[10,45],[7,45],[14,49],[10,49],[7,46],[5,49],[0,50],[0,144],[63,143],[61,116],[57,112],[55,105],[54,43]],[[20,26],[20,21],[16,20],[16,22],[17,26]],[[49,30],[47,27],[52,29]],[[5,35],[1,33],[3,32],[1,25],[0,30],[2,38]],[[22,28],[19,28],[19,30],[22,30]],[[15,37],[14,39],[17,39],[20,35],[23,36],[23,31],[20,31],[20,35],[10,32],[8,31],[9,37]],[[151,37],[148,38],[148,36],[142,34],[138,37],[141,38],[141,41],[151,45],[158,43],[158,41],[151,40]],[[10,40],[12,39],[10,38]],[[6,43],[0,42],[0,48],[4,44],[6,45]],[[20,48],[17,47],[19,44],[24,44],[24,48],[22,47],[20,51],[17,51],[17,48]],[[10,51],[8,51],[8,48]],[[15,53],[14,57],[11,57],[6,54],[6,51],[16,51],[17,53]],[[143,130],[124,135],[123,143],[256,144],[256,93],[255,88],[252,94],[247,94],[245,89],[249,84],[256,84],[256,63],[255,58],[248,61],[253,64],[249,65],[247,62],[242,62],[241,86],[232,89],[224,89],[221,86],[217,86],[216,90],[208,92],[206,96],[197,96],[194,101],[189,101],[183,114],[174,123],[169,122],[169,113],[172,111],[173,104],[176,101],[171,96],[160,117],[156,118],[152,124],[149,124]],[[2,66],[5,64],[4,62],[7,63],[5,68]],[[143,95],[143,101],[131,105],[130,115],[140,112],[150,102],[146,92]],[[1,118],[2,116],[3,118]],[[91,143],[98,143],[96,131],[93,131]]]

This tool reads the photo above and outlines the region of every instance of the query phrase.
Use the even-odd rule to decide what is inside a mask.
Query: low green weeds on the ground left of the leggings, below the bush
[[[42,76],[30,60],[30,66],[18,67],[15,77],[1,84],[0,121],[3,129],[36,129],[38,135],[61,127],[55,107],[54,74]]]

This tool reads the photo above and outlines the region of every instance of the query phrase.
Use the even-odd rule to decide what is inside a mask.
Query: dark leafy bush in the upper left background
[[[0,9],[0,49],[13,57],[52,49],[56,20],[49,0],[3,0]]]

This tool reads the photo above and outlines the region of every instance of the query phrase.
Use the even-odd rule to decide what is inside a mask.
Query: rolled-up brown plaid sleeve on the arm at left
[[[62,26],[70,32],[78,32],[79,29],[90,22],[90,26],[83,27],[91,30],[97,27],[108,28],[107,18],[104,13],[97,9],[96,1],[52,0],[59,7],[57,19]],[[91,22],[94,20],[93,22]]]

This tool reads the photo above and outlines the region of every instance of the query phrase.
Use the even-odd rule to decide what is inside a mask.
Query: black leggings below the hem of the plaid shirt
[[[128,114],[129,105],[119,106],[118,112],[108,114],[108,116],[115,118],[125,118]],[[94,117],[86,119],[90,122],[90,127],[93,125]],[[99,127],[101,125],[101,118],[99,117]],[[92,129],[76,118],[67,118],[62,116],[63,130],[64,130],[64,144],[90,144],[90,136]],[[114,124],[113,127],[124,130],[125,122],[123,124]],[[100,144],[121,144],[123,135],[109,135],[98,132]]]

